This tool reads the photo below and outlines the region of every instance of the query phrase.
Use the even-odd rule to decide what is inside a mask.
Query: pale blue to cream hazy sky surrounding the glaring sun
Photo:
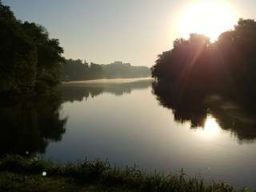
[[[64,57],[134,66],[152,66],[172,48],[182,36],[179,23],[187,5],[196,1],[2,0],[18,19],[45,26],[50,38],[60,40]],[[237,18],[256,18],[255,0],[228,2]]]

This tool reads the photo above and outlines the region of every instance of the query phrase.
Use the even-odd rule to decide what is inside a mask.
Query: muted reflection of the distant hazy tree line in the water
[[[94,98],[103,93],[122,96],[130,94],[132,90],[142,90],[151,86],[151,81],[142,80],[137,82],[102,83],[84,85],[62,85],[62,98],[64,102],[82,101],[83,98]]]

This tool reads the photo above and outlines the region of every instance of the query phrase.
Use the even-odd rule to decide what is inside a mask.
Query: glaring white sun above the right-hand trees
[[[205,34],[214,42],[219,34],[232,29],[237,22],[234,7],[225,1],[197,1],[191,3],[182,14],[179,34],[188,38],[189,34]]]

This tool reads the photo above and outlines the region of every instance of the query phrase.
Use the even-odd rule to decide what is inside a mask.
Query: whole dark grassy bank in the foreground
[[[177,191],[233,192],[218,182],[206,185],[186,174],[146,174],[134,167],[119,169],[108,162],[87,161],[58,166],[38,158],[0,159],[0,191]],[[243,190],[248,191],[248,190]]]

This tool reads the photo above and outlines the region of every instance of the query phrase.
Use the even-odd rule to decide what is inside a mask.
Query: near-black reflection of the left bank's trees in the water
[[[65,133],[59,95],[2,99],[0,105],[0,154],[44,153],[49,142],[60,141]]]

